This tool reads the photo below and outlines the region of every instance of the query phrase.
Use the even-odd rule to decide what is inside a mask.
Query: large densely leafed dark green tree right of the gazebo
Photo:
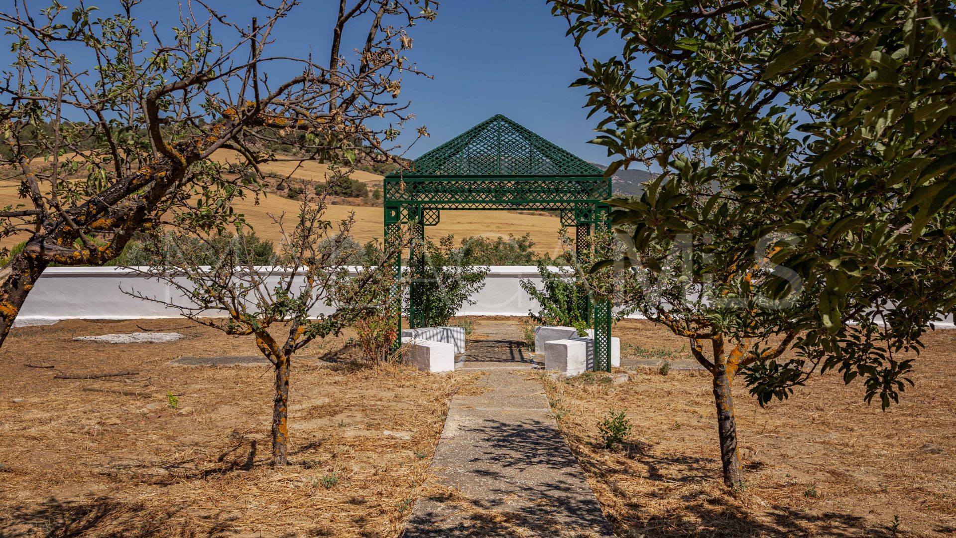
[[[629,247],[618,270],[649,271],[664,299],[636,302],[714,373],[725,482],[742,480],[734,375],[761,403],[831,369],[897,401],[901,353],[956,303],[953,6],[552,5],[582,47],[576,84],[609,170],[665,172],[612,202]],[[587,38],[606,32],[621,55],[587,62]]]

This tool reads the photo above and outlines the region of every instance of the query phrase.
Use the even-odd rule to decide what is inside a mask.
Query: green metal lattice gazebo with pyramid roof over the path
[[[545,210],[559,211],[562,226],[576,227],[580,245],[593,228],[610,227],[603,202],[610,197],[611,180],[600,168],[499,114],[385,176],[385,241],[410,225],[413,244],[423,244],[425,227],[438,224],[445,210]],[[395,264],[401,271],[401,256]],[[424,253],[412,250],[409,264],[413,272],[423,267]],[[415,280],[409,297],[409,325],[421,327]],[[592,303],[594,368],[610,371],[611,304]],[[401,314],[398,323],[401,329]]]

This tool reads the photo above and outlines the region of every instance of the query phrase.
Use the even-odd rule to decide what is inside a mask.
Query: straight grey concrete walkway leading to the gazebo
[[[431,462],[442,483],[412,511],[406,538],[614,536],[557,430],[524,344],[469,343],[465,370],[485,391],[451,399]],[[481,392],[481,393],[479,393]]]

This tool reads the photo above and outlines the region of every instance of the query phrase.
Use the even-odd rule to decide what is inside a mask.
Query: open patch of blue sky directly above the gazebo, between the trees
[[[581,108],[585,89],[568,87],[580,76],[580,58],[566,30],[543,0],[443,2],[438,18],[414,34],[414,57],[435,78],[405,85],[404,95],[432,135],[412,154],[504,114],[580,157],[607,164],[605,149],[587,144],[597,120],[587,120]],[[588,52],[613,55],[617,43],[601,41]]]

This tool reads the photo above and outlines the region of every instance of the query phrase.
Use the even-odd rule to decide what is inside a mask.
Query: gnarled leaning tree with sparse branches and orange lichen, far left
[[[82,3],[0,12],[14,56],[0,165],[24,199],[0,212],[0,238],[28,237],[0,271],[0,344],[51,262],[100,265],[161,222],[221,230],[241,220],[229,201],[258,191],[266,162],[386,160],[409,117],[400,74],[419,73],[407,27],[435,14],[430,0],[343,0],[323,63],[269,52],[297,0],[259,3],[249,25],[182,0],[169,30],[139,21],[140,3],[108,17]],[[346,33],[361,35],[355,56]],[[295,155],[272,151],[282,145]],[[243,162],[217,162],[219,149]]]

